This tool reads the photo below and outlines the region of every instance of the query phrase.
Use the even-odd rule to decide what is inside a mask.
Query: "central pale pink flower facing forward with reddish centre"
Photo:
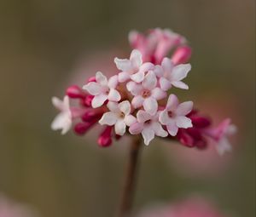
[[[166,92],[156,87],[156,85],[157,79],[154,71],[148,71],[143,83],[127,83],[127,89],[134,95],[131,105],[135,108],[143,106],[145,111],[154,115],[158,109],[157,100],[162,100],[166,97]]]

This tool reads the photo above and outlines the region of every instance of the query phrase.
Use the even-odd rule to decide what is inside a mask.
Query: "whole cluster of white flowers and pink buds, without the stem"
[[[180,103],[170,94],[175,88],[189,89],[183,83],[191,70],[187,63],[191,49],[185,38],[170,30],[154,29],[147,35],[131,31],[129,41],[133,49],[130,58],[114,59],[118,74],[106,77],[97,71],[82,89],[76,85],[67,88],[63,101],[52,99],[61,111],[52,128],[65,134],[74,123],[74,131],[84,134],[100,123],[100,146],[110,146],[113,138],[119,140],[125,134],[142,134],[145,145],[158,136],[203,148],[211,138],[217,141],[219,152],[230,151],[226,140],[230,119],[212,128],[210,120],[193,109],[192,101]],[[70,99],[79,103],[70,106]]]

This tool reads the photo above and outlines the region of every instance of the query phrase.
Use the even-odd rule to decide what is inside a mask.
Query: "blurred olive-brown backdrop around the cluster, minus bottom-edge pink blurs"
[[[231,216],[255,216],[253,0],[1,0],[1,193],[43,217],[113,216],[128,145],[102,149],[90,133],[51,131],[50,99],[128,56],[130,30],[154,27],[193,48],[180,98],[217,123],[231,117],[239,131],[224,157],[160,140],[144,148],[135,212],[199,194]]]

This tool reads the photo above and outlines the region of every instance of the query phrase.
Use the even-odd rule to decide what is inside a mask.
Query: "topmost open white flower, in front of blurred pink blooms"
[[[119,82],[123,83],[131,78],[131,80],[140,83],[143,81],[145,72],[153,69],[154,65],[152,63],[144,63],[142,54],[134,49],[131,51],[130,60],[114,58],[114,63],[117,68],[121,71],[119,72]]]

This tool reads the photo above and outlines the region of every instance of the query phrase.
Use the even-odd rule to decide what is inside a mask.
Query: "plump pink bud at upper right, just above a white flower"
[[[192,50],[189,46],[182,46],[176,49],[171,59],[174,65],[183,64],[189,61],[191,54]]]

